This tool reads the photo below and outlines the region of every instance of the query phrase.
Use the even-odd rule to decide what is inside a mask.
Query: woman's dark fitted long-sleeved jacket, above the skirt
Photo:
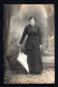
[[[25,45],[26,49],[40,48],[40,45],[42,44],[42,34],[38,25],[34,25],[33,27],[30,24],[27,25],[25,27],[25,30],[23,33],[23,37],[19,44],[23,44],[26,35],[28,35],[28,38]]]

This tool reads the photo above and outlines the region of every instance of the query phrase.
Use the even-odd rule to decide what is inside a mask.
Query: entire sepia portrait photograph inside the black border
[[[3,4],[3,83],[55,84],[55,4]]]

